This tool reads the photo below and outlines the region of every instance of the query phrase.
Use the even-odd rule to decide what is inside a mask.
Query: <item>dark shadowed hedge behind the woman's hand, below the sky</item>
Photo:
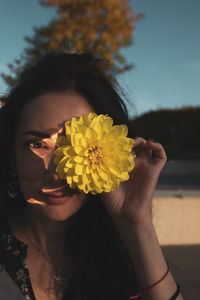
[[[200,106],[149,111],[130,122],[130,136],[161,143],[168,158],[200,159]]]

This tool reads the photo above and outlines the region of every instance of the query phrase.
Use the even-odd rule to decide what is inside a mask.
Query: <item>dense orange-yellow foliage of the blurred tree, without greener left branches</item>
[[[87,50],[106,58],[119,55],[121,47],[131,43],[134,22],[141,14],[132,12],[129,0],[41,0],[43,6],[57,7],[58,22],[50,47],[78,53]]]

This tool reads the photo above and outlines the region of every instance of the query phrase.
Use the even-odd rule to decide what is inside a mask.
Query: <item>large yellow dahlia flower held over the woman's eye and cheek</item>
[[[129,179],[134,168],[126,125],[114,125],[107,115],[90,113],[65,123],[66,136],[57,139],[56,172],[71,188],[92,194],[110,192]]]

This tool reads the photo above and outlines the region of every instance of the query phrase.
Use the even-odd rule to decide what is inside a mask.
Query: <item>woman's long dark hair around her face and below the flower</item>
[[[83,96],[97,114],[108,114],[115,124],[129,126],[126,106],[121,97],[109,62],[91,53],[47,54],[38,64],[27,69],[13,87],[0,110],[0,196],[1,212],[26,205],[19,193],[12,204],[7,193],[10,180],[10,157],[16,128],[24,106],[32,99],[49,92],[74,91]],[[64,299],[127,300],[134,292],[133,266],[99,196],[90,196],[86,205],[75,214],[68,237],[74,264],[73,281]]]

